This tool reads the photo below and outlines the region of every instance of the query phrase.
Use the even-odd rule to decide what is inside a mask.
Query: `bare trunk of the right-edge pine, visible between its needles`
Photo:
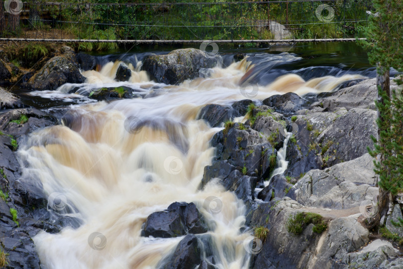
[[[389,78],[389,68],[385,68],[382,65],[378,64],[377,66],[377,88],[378,90],[382,92],[386,92],[388,95],[389,99],[391,100],[392,94],[391,94],[391,81]],[[377,101],[379,103],[385,104],[385,100],[379,95],[378,92],[378,98]],[[385,121],[385,115],[380,113],[378,110],[378,118],[381,120],[381,122]],[[378,141],[380,141],[379,137],[381,134],[381,129],[378,128]],[[381,147],[385,147],[386,145],[380,144]],[[378,157],[381,163],[383,162],[384,156],[379,156]],[[378,176],[378,182],[380,181],[380,177]],[[384,190],[383,188],[379,187],[379,197],[378,197],[378,210],[376,212],[376,215],[374,218],[369,220],[369,228],[373,228],[376,225],[380,224],[380,221],[383,216],[386,216],[388,214],[389,208],[390,208],[390,203],[393,202],[393,196],[390,191]]]

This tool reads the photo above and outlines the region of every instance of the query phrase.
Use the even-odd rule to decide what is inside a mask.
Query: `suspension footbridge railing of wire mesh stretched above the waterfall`
[[[355,38],[363,36],[371,9],[370,0],[21,4],[4,6],[0,37],[90,42]]]

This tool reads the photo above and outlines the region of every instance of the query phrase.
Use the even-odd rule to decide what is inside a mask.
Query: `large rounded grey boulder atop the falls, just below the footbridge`
[[[148,72],[159,83],[179,84],[186,79],[199,77],[202,68],[212,68],[217,60],[206,57],[199,49],[177,49],[166,55],[147,56],[142,70]]]

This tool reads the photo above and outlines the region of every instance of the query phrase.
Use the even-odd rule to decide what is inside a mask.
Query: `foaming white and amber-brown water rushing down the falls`
[[[198,112],[210,103],[229,105],[242,99],[259,103],[279,93],[328,92],[360,75],[347,71],[343,75],[339,68],[337,77],[305,81],[299,72],[284,75],[279,70],[286,69],[277,68],[298,63],[301,57],[260,52],[237,63],[223,57],[227,64],[209,70],[209,77],[171,86],[150,81],[139,71],[141,57],[130,57],[129,82],[114,81],[119,62],[103,57],[99,72],[83,72],[85,84],[33,93],[75,104],[64,110],[63,125],[32,134],[20,150],[28,163],[24,173],[40,179],[53,202],[49,206],[81,222],[76,229],[42,232],[34,238],[42,264],[49,269],[158,268],[182,237],[141,237],[141,226],[151,213],[185,201],[197,205],[211,228],[200,236],[209,245],[203,255],[212,256],[220,269],[247,268],[250,251],[245,246],[251,232],[242,229],[243,202],[214,180],[199,190],[203,168],[214,155],[209,140],[222,128],[196,120]],[[244,91],[240,83],[259,84]],[[85,93],[88,96],[100,85],[128,86],[145,98],[92,103]],[[69,94],[74,87],[82,95]],[[275,173],[287,168],[291,133],[285,134]]]

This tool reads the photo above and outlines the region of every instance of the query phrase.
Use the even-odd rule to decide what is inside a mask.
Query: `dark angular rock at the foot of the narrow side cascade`
[[[293,184],[287,182],[287,179],[283,175],[275,175],[269,185],[261,190],[257,198],[269,202],[273,198],[283,198],[293,187]],[[274,196],[273,196],[274,193]]]

